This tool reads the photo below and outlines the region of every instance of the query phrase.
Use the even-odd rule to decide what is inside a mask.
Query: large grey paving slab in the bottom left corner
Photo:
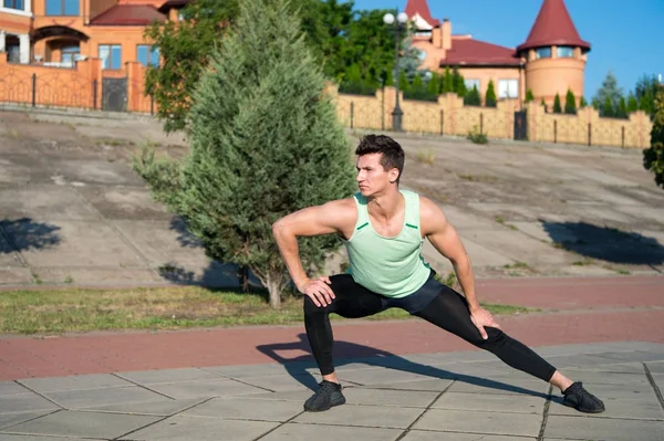
[[[117,438],[157,421],[159,417],[63,410],[4,430],[9,433]]]

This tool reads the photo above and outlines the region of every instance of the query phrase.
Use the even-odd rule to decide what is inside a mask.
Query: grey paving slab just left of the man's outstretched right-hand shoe
[[[544,402],[546,399],[539,397],[445,392],[432,408],[541,414]]]

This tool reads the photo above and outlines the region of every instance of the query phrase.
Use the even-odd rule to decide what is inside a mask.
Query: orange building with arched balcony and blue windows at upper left
[[[178,20],[187,0],[2,0],[0,52],[21,64],[70,67],[98,57],[120,71],[158,63],[143,32],[154,21]]]

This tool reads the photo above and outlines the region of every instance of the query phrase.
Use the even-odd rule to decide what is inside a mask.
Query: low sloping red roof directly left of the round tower
[[[440,60],[440,65],[518,66],[515,50],[474,39],[452,39],[452,49]]]

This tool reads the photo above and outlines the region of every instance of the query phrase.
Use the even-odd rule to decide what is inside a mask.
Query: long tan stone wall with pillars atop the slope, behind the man
[[[392,129],[395,88],[376,91],[375,96],[339,94],[329,87],[338,115],[352,128]],[[489,138],[513,139],[517,99],[498,102],[497,107],[465,106],[456,94],[445,94],[437,102],[403,99],[403,129],[412,133],[466,136],[477,128]],[[579,109],[577,115],[552,114],[537,103],[525,105],[528,118],[528,139],[544,143],[601,145],[646,148],[650,145],[652,123],[644,112],[630,114],[629,119],[600,117],[592,107]]]

